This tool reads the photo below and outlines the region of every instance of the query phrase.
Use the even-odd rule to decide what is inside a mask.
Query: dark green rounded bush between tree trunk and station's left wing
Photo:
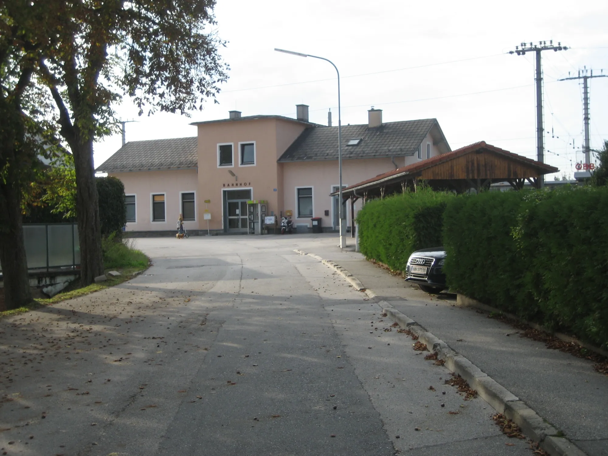
[[[118,178],[97,178],[99,223],[102,236],[122,233],[126,224],[125,185]]]

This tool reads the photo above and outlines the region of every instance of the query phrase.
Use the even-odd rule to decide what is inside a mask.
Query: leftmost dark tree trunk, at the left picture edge
[[[7,309],[16,309],[32,302],[21,224],[21,198],[19,187],[13,184],[7,179],[6,184],[0,185],[0,264]]]

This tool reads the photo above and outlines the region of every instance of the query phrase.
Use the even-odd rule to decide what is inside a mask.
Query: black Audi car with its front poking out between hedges
[[[418,284],[422,291],[438,293],[447,288],[443,263],[446,250],[443,247],[416,250],[407,260],[406,282]]]

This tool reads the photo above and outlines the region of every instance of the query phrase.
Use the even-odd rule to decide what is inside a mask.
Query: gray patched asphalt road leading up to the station
[[[139,239],[145,274],[1,320],[2,454],[531,454],[311,243]]]

